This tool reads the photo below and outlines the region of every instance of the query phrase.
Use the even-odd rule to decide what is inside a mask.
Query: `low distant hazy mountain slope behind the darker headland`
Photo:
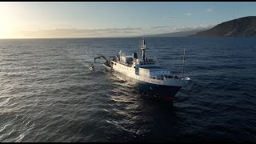
[[[202,29],[206,30],[206,29]],[[144,35],[143,37],[186,37],[191,34],[196,34],[202,30],[190,30],[190,31],[181,31],[175,33],[165,33],[165,34],[152,34],[152,35]]]

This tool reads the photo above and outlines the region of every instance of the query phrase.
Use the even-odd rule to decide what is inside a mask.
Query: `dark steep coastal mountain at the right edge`
[[[222,22],[210,30],[200,31],[190,36],[256,36],[256,16]]]

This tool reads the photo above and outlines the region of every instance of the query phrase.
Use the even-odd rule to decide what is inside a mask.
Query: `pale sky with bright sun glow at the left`
[[[0,2],[0,38],[107,38],[211,28],[256,2]]]

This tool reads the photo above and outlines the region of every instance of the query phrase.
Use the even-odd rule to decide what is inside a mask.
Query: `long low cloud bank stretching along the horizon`
[[[167,31],[182,32],[189,30],[206,30],[214,25],[200,26],[152,26],[135,28],[102,28],[102,29],[50,29],[50,30],[23,30],[14,35],[16,38],[117,38],[137,37],[141,34],[163,34]]]

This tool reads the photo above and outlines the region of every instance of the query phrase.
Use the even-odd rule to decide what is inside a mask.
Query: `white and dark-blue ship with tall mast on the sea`
[[[119,55],[112,57],[111,61],[101,56],[106,59],[103,66],[108,70],[114,71],[114,73],[126,76],[138,86],[139,90],[169,100],[174,98],[182,86],[190,85],[190,78],[183,78],[183,73],[182,78],[174,77],[171,75],[169,68],[159,66],[154,59],[146,58],[146,41],[144,38],[142,39],[141,50],[142,58],[138,58],[137,53],[126,55],[122,53],[122,50],[120,50]]]

